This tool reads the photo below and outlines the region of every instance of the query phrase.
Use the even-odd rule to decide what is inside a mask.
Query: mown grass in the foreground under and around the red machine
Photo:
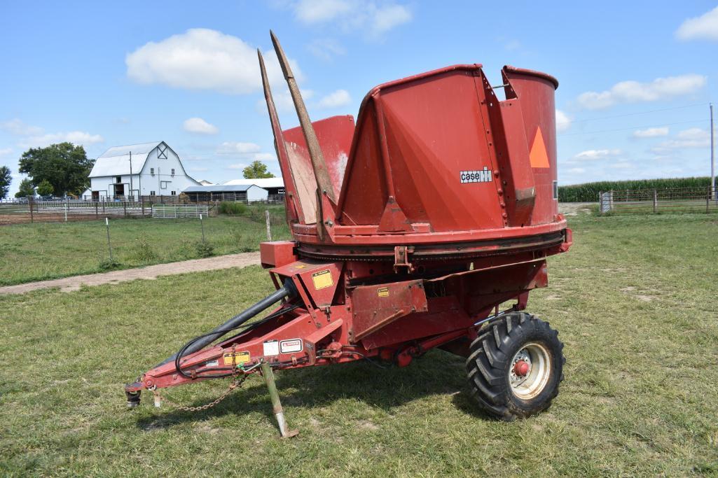
[[[718,221],[571,218],[529,310],[565,342],[554,405],[477,412],[463,361],[432,351],[279,372],[279,439],[260,380],[210,411],[125,408],[122,385],[266,295],[258,267],[0,297],[0,474],[102,476],[685,476],[718,474]],[[169,390],[199,405],[226,383]]]

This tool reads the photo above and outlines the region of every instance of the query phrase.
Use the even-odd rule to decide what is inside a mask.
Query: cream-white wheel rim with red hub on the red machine
[[[551,355],[544,345],[526,344],[511,359],[508,380],[513,394],[522,400],[531,400],[541,393],[550,376]]]

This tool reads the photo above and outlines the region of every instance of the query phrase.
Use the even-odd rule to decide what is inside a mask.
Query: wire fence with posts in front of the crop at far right
[[[718,190],[712,187],[628,189],[601,192],[601,214],[718,212]]]

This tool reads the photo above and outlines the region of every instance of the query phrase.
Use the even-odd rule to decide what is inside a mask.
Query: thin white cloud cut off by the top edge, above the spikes
[[[299,0],[294,17],[307,25],[332,22],[345,32],[362,31],[378,37],[394,27],[411,22],[411,10],[391,1]]]

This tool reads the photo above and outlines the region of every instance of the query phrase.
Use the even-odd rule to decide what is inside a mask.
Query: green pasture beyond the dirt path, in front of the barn
[[[289,237],[281,208],[272,211],[273,239]],[[261,214],[210,217],[205,238],[215,254],[258,250],[266,240]],[[200,257],[197,219],[110,219],[115,268],[182,261]],[[105,221],[35,223],[0,227],[0,286],[106,270]]]

